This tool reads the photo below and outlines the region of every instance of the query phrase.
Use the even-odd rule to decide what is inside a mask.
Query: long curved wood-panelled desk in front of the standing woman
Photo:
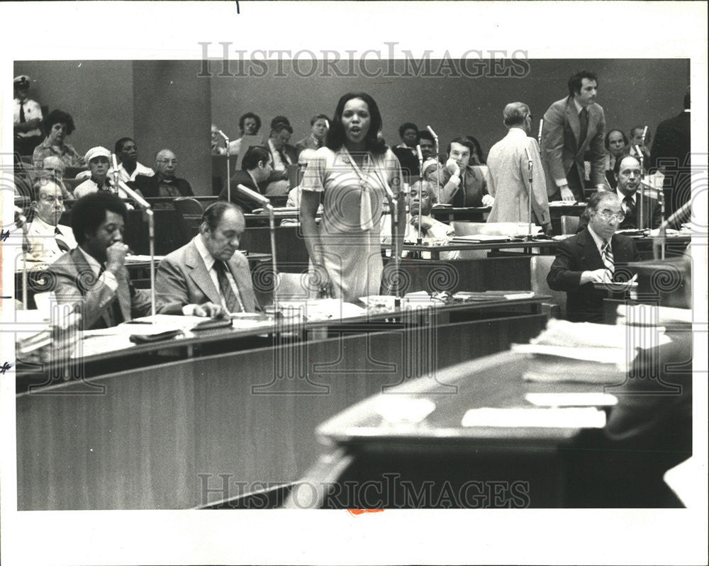
[[[294,482],[320,453],[318,424],[528,341],[544,299],[116,344],[66,382],[18,369],[18,509],[186,509]]]

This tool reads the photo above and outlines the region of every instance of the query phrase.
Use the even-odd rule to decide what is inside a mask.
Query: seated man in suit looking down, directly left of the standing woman
[[[181,306],[184,315],[198,314],[197,310],[211,316],[255,312],[249,262],[237,252],[245,227],[237,205],[224,200],[210,205],[199,234],[160,262],[155,281],[160,302]]]

